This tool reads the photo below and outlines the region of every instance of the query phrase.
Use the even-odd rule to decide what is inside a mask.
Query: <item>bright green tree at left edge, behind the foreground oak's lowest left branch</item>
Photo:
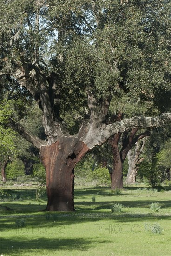
[[[37,157],[39,155],[39,150],[33,147],[31,143],[14,133],[11,128],[7,128],[8,118],[13,115],[16,120],[25,123],[26,127],[34,130],[35,133],[38,133],[38,127],[39,133],[42,133],[42,130],[40,125],[41,120],[39,120],[41,119],[41,114],[38,108],[36,109],[37,112],[35,111],[34,108],[36,108],[36,106],[32,103],[29,97],[30,95],[26,90],[19,88],[17,82],[13,79],[11,80],[13,86],[11,86],[10,82],[5,77],[3,77],[2,82],[3,87],[1,87],[0,94],[0,145],[1,173],[3,176],[2,179],[5,181],[5,168],[9,162],[13,160],[16,162],[17,158],[20,158],[24,163],[25,173],[29,174],[30,170],[33,168],[33,163],[38,161]],[[31,107],[32,104],[33,106]],[[28,109],[29,114],[26,118]],[[39,124],[36,122],[37,120],[39,120]],[[13,164],[11,167],[13,169]]]

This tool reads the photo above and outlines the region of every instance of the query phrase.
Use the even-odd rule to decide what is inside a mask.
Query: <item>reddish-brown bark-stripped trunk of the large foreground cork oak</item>
[[[88,150],[76,137],[62,137],[40,148],[46,169],[47,211],[74,211],[74,166]]]

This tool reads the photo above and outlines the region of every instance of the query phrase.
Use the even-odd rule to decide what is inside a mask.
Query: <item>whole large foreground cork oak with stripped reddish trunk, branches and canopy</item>
[[[42,110],[46,141],[20,120],[11,117],[9,126],[40,150],[46,210],[74,209],[74,166],[87,151],[116,133],[171,119],[132,111],[132,118],[108,120],[119,101],[136,103],[137,115],[161,114],[161,91],[171,93],[168,13],[166,0],[1,0],[1,85],[5,79],[13,88],[14,80],[19,94],[29,91]]]

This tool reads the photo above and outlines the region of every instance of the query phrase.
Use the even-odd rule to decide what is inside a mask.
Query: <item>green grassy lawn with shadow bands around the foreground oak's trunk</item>
[[[117,195],[107,187],[77,187],[73,213],[44,212],[46,198],[35,201],[34,189],[8,190],[22,196],[0,202],[13,209],[0,207],[0,255],[170,256],[171,190],[166,189],[127,187]],[[153,212],[152,202],[162,208]],[[120,214],[111,212],[114,203],[123,204]],[[161,235],[152,233],[155,225],[163,229]]]

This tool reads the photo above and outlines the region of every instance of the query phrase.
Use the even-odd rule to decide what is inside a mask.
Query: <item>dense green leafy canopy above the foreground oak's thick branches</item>
[[[167,0],[1,0],[1,85],[21,93],[11,78],[20,65],[58,74],[57,98],[72,132],[86,116],[88,91],[112,96],[111,111],[125,116],[166,111],[170,10]]]

